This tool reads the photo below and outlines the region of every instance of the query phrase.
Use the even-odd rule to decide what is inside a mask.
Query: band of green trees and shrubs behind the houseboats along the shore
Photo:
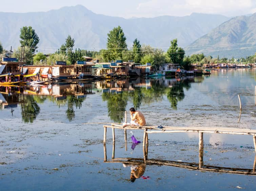
[[[207,64],[213,66],[216,64],[253,64],[256,63],[256,54],[245,58],[213,58],[204,53],[185,55],[184,49],[178,47],[178,40],[171,40],[171,45],[167,51],[161,48],[155,48],[150,45],[141,45],[135,38],[133,47],[128,48],[126,37],[120,26],[114,27],[107,33],[106,49],[99,51],[75,49],[75,39],[68,35],[65,43],[53,54],[44,54],[37,52],[37,44],[40,38],[31,26],[24,26],[20,29],[20,44],[17,50],[7,51],[3,49],[0,43],[0,58],[13,57],[18,61],[25,61],[28,65],[53,65],[56,61],[65,61],[67,65],[73,65],[77,61],[86,61],[84,57],[91,57],[97,62],[111,62],[114,60],[123,60],[124,62],[133,61],[135,63],[151,63],[160,66],[164,63],[178,63],[182,69],[188,70],[190,65]],[[0,39],[1,41],[1,39]],[[222,67],[221,65],[219,67]]]

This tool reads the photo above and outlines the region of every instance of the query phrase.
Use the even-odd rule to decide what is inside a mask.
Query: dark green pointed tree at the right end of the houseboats
[[[167,54],[171,62],[179,64],[182,62],[185,55],[185,51],[182,48],[178,47],[177,38],[171,41],[171,46],[167,50]]]

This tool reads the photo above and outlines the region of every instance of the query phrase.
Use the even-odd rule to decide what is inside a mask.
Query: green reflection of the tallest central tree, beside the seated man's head
[[[123,120],[128,98],[128,92],[102,93],[102,100],[107,101],[109,117],[114,122],[120,123]]]

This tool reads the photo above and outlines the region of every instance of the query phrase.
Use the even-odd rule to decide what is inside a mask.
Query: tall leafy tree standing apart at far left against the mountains
[[[32,54],[34,54],[35,50],[38,48],[37,44],[40,40],[35,30],[31,26],[22,27],[20,29],[20,38],[21,46],[28,46],[31,49]]]

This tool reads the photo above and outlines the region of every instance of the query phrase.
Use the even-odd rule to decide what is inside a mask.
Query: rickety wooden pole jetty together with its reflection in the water
[[[125,121],[127,117],[125,116]],[[238,129],[238,128],[222,128],[222,127],[170,127],[165,126],[162,129],[157,128],[157,126],[122,126],[120,124],[104,125],[104,136],[103,136],[103,147],[104,147],[104,162],[122,162],[122,163],[141,163],[144,162],[147,165],[169,165],[177,166],[190,169],[198,169],[203,171],[216,171],[216,172],[226,172],[226,173],[238,173],[238,174],[250,174],[256,175],[256,155],[252,169],[242,169],[242,168],[229,168],[220,166],[211,166],[203,164],[203,133],[219,133],[219,134],[233,134],[233,135],[251,135],[253,137],[253,143],[256,153],[256,130],[252,129]],[[106,132],[107,128],[112,128],[112,138],[113,138],[113,150],[112,150],[112,160],[107,161],[106,156]],[[143,130],[143,160],[142,159],[132,159],[132,158],[115,158],[115,129],[124,130],[124,141],[125,149],[127,151],[127,130]],[[188,133],[197,132],[199,134],[199,162],[189,163],[189,162],[177,162],[177,161],[164,161],[164,160],[152,160],[147,159],[148,145],[149,145],[149,134],[153,133]]]

